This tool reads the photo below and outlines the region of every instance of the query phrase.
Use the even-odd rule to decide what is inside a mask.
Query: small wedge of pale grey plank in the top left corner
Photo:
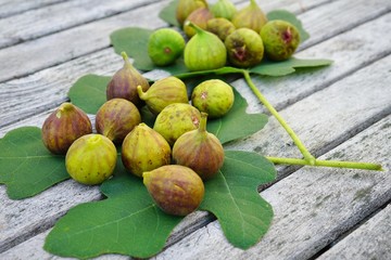
[[[0,18],[64,1],[65,0],[3,0],[0,1]]]

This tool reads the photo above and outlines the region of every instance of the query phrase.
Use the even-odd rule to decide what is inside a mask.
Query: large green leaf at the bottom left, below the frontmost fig
[[[47,251],[83,259],[103,253],[147,258],[163,249],[182,219],[160,210],[141,179],[129,173],[116,173],[101,192],[106,199],[80,204],[56,222],[47,236]]]

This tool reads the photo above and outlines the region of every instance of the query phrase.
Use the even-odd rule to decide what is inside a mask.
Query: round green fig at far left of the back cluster
[[[185,39],[175,29],[161,28],[152,32],[148,39],[148,55],[157,66],[167,66],[182,54]]]

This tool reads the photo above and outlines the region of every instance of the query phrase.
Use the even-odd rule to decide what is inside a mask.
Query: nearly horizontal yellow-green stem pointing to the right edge
[[[302,165],[302,166],[310,165],[308,161],[305,159],[281,158],[281,157],[269,157],[269,156],[266,156],[266,158],[276,165]],[[319,159],[316,159],[315,165],[311,165],[311,166],[383,171],[381,165],[378,165],[378,164],[356,162],[356,161],[345,161],[345,160],[319,160]]]

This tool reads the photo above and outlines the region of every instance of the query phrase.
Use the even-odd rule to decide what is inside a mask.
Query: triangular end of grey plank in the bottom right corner
[[[318,260],[391,259],[391,205],[376,213]]]

